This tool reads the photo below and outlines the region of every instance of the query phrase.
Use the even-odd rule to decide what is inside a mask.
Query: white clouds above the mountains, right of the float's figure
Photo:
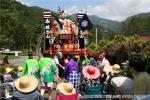
[[[66,10],[69,14],[79,11],[76,5]],[[138,13],[150,12],[150,0],[105,0],[101,4],[86,5],[84,10],[90,15],[122,21]]]

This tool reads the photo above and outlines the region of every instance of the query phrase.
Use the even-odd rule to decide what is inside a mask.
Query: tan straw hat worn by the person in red
[[[57,85],[57,90],[65,95],[71,95],[76,93],[76,90],[71,83],[59,83]]]

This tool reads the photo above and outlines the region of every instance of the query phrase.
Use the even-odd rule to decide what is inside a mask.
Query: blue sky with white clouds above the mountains
[[[39,6],[68,15],[86,12],[88,15],[123,21],[129,16],[150,12],[150,0],[16,0],[27,6]]]

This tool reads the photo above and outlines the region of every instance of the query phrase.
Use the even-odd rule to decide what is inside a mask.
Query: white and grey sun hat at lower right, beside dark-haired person
[[[133,94],[133,80],[128,77],[114,77],[111,80],[111,84],[124,95]]]

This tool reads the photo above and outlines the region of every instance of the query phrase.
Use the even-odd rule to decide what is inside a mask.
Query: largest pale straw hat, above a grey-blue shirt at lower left
[[[32,92],[38,86],[38,80],[35,76],[22,76],[15,81],[16,89],[23,93]]]

